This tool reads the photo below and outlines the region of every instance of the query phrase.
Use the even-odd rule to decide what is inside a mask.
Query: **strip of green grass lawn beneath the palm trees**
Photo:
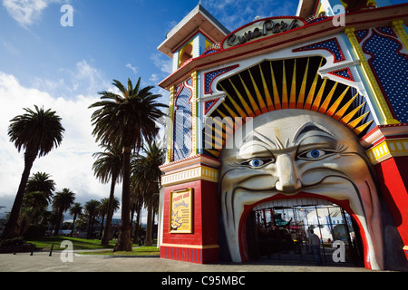
[[[43,250],[51,250],[53,246],[53,250],[64,250],[66,247],[60,247],[63,240],[69,240],[73,242],[73,249],[74,250],[82,250],[83,255],[111,255],[111,256],[159,256],[159,249],[157,247],[139,247],[138,244],[133,244],[133,248],[131,252],[113,252],[112,249],[116,245],[116,240],[111,240],[109,242],[109,247],[102,247],[100,239],[86,239],[86,238],[78,238],[78,237],[41,237],[35,240],[29,240],[27,243],[32,243],[37,248],[41,248]],[[87,250],[97,250],[101,249],[101,251],[92,251],[87,252]]]

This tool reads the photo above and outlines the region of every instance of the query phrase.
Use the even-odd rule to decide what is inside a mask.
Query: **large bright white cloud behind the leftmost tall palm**
[[[45,171],[52,175],[56,189],[69,188],[81,202],[92,198],[107,198],[109,185],[102,185],[92,172],[92,153],[101,149],[92,136],[89,105],[99,100],[96,95],[76,95],[71,100],[53,98],[50,93],[26,88],[11,74],[0,72],[0,198],[14,201],[24,169],[24,152],[18,153],[7,136],[10,120],[24,113],[23,108],[34,104],[52,109],[62,118],[65,129],[62,145],[48,155],[36,159],[31,173]],[[121,198],[120,187],[116,196]],[[8,205],[11,207],[11,205]],[[10,210],[11,208],[8,208]]]

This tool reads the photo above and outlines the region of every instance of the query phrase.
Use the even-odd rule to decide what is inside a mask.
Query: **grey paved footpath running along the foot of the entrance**
[[[159,257],[83,256],[63,262],[61,251],[0,254],[0,272],[374,272],[355,266],[273,265],[270,263],[194,264]]]

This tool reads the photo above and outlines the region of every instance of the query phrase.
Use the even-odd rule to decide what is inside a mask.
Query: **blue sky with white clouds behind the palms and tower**
[[[405,3],[406,1],[394,1]],[[24,168],[23,152],[8,141],[9,121],[34,104],[62,116],[63,145],[34,162],[32,173],[52,175],[56,189],[72,189],[77,201],[109,196],[109,185],[92,175],[99,151],[91,131],[97,92],[141,77],[143,85],[169,95],[157,83],[170,74],[170,59],[157,51],[170,29],[199,1],[0,0],[0,209],[10,211]],[[73,26],[60,23],[63,5],[73,7]],[[230,31],[256,16],[296,14],[297,1],[202,0]],[[121,198],[121,186],[116,189]]]

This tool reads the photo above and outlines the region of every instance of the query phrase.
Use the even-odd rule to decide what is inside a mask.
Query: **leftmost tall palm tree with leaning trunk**
[[[3,231],[3,238],[12,238],[17,235],[17,220],[23,203],[25,186],[35,158],[45,156],[58,147],[63,140],[64,129],[61,118],[55,114],[55,111],[51,111],[51,109],[44,111],[44,108],[39,109],[37,106],[34,108],[34,111],[25,108],[26,113],[12,119],[8,128],[10,141],[15,143],[19,152],[22,149],[25,151],[24,171],[10,217]]]

